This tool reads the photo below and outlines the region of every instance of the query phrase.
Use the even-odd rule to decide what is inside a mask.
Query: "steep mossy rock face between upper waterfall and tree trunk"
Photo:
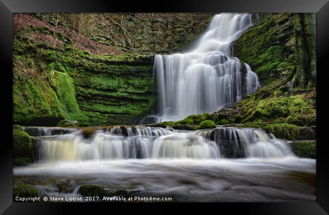
[[[234,43],[234,56],[248,63],[261,84],[292,73],[295,65],[294,15],[253,14],[254,27]]]

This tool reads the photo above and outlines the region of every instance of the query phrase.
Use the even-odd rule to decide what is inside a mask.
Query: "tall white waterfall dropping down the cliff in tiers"
[[[257,90],[256,73],[233,57],[232,49],[232,42],[250,26],[251,14],[222,13],[189,52],[155,56],[162,120],[213,113]]]

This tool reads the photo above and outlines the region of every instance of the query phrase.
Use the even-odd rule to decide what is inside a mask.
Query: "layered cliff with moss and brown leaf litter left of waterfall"
[[[15,14],[13,121],[139,123],[154,112],[155,53],[178,52],[211,14]]]

